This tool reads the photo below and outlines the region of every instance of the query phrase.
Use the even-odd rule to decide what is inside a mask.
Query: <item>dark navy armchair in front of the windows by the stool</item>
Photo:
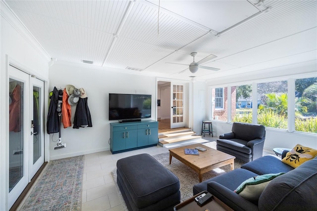
[[[234,122],[231,131],[219,136],[217,150],[245,162],[262,157],[265,140],[263,125]]]

